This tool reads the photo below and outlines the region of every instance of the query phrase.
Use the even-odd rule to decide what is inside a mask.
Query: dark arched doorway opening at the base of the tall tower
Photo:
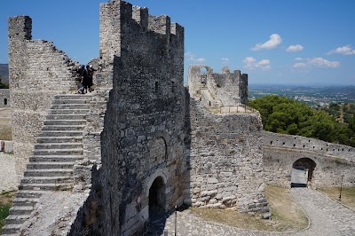
[[[156,210],[165,210],[165,184],[162,177],[156,177],[149,188],[149,213]]]

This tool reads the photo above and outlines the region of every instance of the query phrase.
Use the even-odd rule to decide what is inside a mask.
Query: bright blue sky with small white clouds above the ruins
[[[99,3],[2,0],[0,63],[8,17],[32,18],[33,39],[85,64],[99,56]],[[205,64],[248,74],[249,84],[355,85],[354,0],[131,0],[185,28],[185,72]]]

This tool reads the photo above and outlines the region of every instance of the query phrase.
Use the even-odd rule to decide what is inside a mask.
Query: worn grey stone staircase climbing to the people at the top
[[[33,155],[29,157],[2,235],[18,235],[36,202],[48,191],[71,190],[73,166],[83,159],[83,129],[89,95],[56,96],[43,122]]]

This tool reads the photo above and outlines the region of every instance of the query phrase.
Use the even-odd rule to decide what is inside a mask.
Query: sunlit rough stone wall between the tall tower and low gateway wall
[[[262,122],[256,114],[210,114],[190,99],[185,202],[263,211]]]

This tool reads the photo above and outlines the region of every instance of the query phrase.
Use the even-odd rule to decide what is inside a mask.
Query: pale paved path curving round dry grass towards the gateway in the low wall
[[[189,214],[187,211],[177,212],[178,236],[232,236],[232,235],[312,235],[312,236],[344,236],[355,235],[355,212],[331,200],[323,193],[308,188],[292,188],[292,195],[304,208],[311,224],[301,232],[259,232],[243,230],[224,224],[211,223]],[[165,222],[160,235],[175,235],[175,214]],[[154,234],[148,234],[154,235]]]

